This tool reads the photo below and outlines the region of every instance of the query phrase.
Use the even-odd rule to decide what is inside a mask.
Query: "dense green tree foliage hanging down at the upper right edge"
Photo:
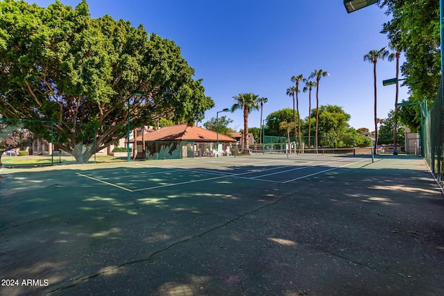
[[[427,98],[432,105],[441,79],[439,1],[383,0],[379,7],[386,8],[386,15],[392,16],[381,33],[406,58],[401,71],[407,78],[404,85],[410,89],[409,101]],[[403,107],[398,115],[412,130],[420,129],[419,105]]]

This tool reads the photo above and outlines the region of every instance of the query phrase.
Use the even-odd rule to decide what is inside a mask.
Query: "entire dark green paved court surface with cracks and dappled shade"
[[[444,293],[443,195],[417,157],[270,154],[1,174],[1,295]]]

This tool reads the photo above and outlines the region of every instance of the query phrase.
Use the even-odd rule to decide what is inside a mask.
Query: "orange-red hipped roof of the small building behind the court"
[[[154,132],[144,135],[145,141],[198,141],[198,142],[215,142],[216,132],[199,128],[198,126],[188,126],[186,124],[167,126],[160,128]],[[136,141],[142,141],[142,135],[136,138]],[[219,134],[220,142],[235,142],[236,140]]]

